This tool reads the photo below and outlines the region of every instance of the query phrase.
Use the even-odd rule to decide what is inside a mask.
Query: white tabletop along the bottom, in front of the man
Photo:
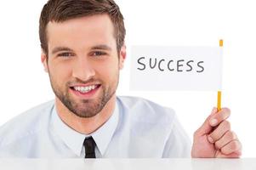
[[[242,159],[0,159],[1,170],[256,170]]]

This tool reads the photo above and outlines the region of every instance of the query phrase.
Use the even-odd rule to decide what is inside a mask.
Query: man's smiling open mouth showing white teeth
[[[96,91],[100,88],[100,84],[92,84],[92,85],[76,85],[71,87],[71,90],[74,94],[82,97],[91,97]]]

